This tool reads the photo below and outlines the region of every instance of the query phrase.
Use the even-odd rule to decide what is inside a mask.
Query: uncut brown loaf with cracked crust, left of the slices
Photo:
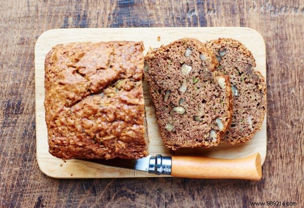
[[[143,44],[55,46],[45,60],[49,152],[62,159],[141,158],[147,153]]]

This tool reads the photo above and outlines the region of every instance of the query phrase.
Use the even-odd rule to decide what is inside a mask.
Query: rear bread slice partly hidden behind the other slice
[[[251,52],[238,40],[219,38],[206,46],[213,50],[219,65],[216,70],[230,76],[233,91],[233,119],[222,142],[249,141],[260,129],[266,111],[266,84],[264,77],[254,70]]]

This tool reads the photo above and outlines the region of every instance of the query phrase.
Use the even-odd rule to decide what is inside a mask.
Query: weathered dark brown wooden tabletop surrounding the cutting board
[[[0,207],[249,207],[304,203],[304,1],[0,0]],[[261,181],[57,180],[36,162],[34,45],[46,30],[242,26],[267,47],[268,153]]]

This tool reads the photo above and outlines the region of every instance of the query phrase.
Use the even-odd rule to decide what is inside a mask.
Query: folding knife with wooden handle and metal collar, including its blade
[[[87,159],[112,167],[146,171],[149,174],[202,179],[260,180],[259,153],[240,159],[219,159],[199,156],[147,156],[140,159]]]

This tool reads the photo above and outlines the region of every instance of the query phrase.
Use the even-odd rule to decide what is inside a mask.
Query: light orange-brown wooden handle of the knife
[[[262,177],[259,153],[241,159],[172,156],[171,176],[208,179],[248,179]]]

